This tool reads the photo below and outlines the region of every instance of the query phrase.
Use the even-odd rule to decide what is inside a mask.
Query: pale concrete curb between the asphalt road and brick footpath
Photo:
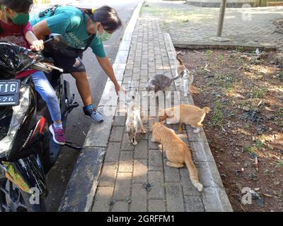
[[[144,1],[141,1],[135,8],[132,18],[129,20],[125,29],[115,62],[112,65],[117,76],[117,81],[120,84],[122,84],[125,73],[132,41],[132,32],[134,31],[143,4]],[[109,78],[100,99],[98,109],[105,115],[105,121],[103,124],[91,124],[58,211],[90,212],[93,206],[100,170],[103,166],[105,151],[117,109],[117,95],[114,85]]]

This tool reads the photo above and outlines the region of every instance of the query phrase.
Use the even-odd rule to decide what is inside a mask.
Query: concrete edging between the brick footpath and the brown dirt
[[[171,71],[173,76],[177,73],[176,52],[169,33],[166,33],[166,49],[168,52],[169,61],[171,64]],[[180,80],[175,80],[175,87],[177,91],[183,93],[182,83]],[[194,105],[192,96],[180,97],[180,102]],[[197,150],[192,154],[197,165],[200,165],[200,175],[204,178],[204,191],[202,192],[202,201],[204,210],[206,212],[232,212],[233,208],[229,202],[224,186],[222,184],[219,171],[216,167],[214,157],[209,148],[207,137],[204,130],[200,133],[193,133],[191,126],[186,126],[187,135],[190,142],[192,142],[192,150]]]

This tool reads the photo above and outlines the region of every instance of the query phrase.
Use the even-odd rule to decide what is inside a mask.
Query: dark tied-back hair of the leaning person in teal
[[[1,1],[1,0],[0,0]],[[117,11],[110,6],[102,6],[97,8],[94,13],[90,8],[80,8],[81,11],[88,14],[93,22],[100,22],[105,30],[115,31],[122,26],[122,21],[118,16]]]

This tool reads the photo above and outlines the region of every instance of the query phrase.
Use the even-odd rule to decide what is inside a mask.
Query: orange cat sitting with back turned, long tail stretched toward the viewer
[[[187,165],[189,169],[190,180],[198,191],[202,191],[203,186],[199,182],[197,168],[192,162],[190,148],[177,136],[173,129],[169,129],[159,122],[152,124],[152,142],[161,143],[163,150],[166,151],[168,162],[166,165],[169,167],[180,168]]]

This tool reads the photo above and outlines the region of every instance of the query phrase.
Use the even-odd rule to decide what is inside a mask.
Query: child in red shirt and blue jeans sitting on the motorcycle
[[[33,0],[0,0],[0,40],[13,42],[35,51],[43,49],[43,41],[37,40],[28,22],[32,5]],[[53,121],[53,124],[50,125],[50,132],[54,142],[64,145],[66,139],[62,128],[61,111],[52,85],[42,71],[23,71],[18,73],[16,78],[25,76],[32,76],[35,90],[47,103]]]

